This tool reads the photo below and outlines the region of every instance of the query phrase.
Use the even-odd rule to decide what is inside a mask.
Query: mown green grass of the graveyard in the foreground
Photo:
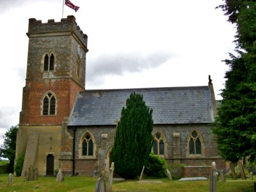
[[[179,182],[161,179],[163,183],[138,183],[138,180],[126,180],[124,182],[113,182],[112,191],[209,191],[209,181],[186,181]],[[217,191],[225,192],[251,192],[256,180],[231,180],[217,182]],[[63,182],[56,182],[56,177],[39,177],[35,181],[24,181],[24,177],[13,177],[13,184],[8,186],[8,174],[0,174],[0,191],[87,191],[94,192],[97,178],[93,177],[65,177]]]

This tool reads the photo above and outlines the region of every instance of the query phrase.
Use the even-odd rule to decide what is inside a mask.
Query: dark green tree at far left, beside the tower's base
[[[10,161],[8,172],[13,172],[15,161],[16,136],[19,126],[12,126],[3,135],[4,143],[0,147],[0,157],[8,158]]]

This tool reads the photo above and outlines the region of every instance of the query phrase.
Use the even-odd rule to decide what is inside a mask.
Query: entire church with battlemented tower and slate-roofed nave
[[[212,122],[212,80],[204,86],[86,90],[88,36],[74,16],[60,22],[29,19],[26,85],[22,93],[16,159],[25,154],[22,175],[99,175],[109,172],[116,124],[132,92],[153,109],[152,152],[172,167],[225,168]]]

